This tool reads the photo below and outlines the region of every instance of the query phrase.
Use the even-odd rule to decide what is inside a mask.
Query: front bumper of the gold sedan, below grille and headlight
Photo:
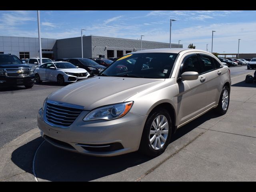
[[[128,112],[115,120],[84,122],[89,111],[83,111],[68,128],[51,126],[44,121],[42,109],[38,112],[38,128],[41,136],[56,147],[92,156],[116,156],[137,151],[147,116]],[[64,143],[63,143],[64,142]],[[104,150],[100,146],[114,146]],[[84,147],[87,146],[87,147]],[[97,147],[97,150],[95,148]]]

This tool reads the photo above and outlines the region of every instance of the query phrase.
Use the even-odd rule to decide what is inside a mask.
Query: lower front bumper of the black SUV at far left
[[[6,77],[0,76],[0,86],[22,86],[34,85],[35,76],[28,77]]]

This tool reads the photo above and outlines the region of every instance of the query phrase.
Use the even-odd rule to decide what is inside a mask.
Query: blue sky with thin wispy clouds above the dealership
[[[213,52],[256,53],[256,11],[40,11],[42,38],[81,35],[169,42]],[[37,11],[0,11],[0,35],[38,37]]]

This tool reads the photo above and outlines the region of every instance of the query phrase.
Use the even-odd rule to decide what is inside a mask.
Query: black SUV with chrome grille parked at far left
[[[0,87],[24,85],[32,88],[34,80],[32,67],[23,64],[15,55],[0,54]]]

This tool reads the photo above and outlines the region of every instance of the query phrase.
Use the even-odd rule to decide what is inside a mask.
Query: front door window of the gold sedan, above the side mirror
[[[201,73],[200,64],[196,54],[186,56],[182,62],[180,74],[188,71],[198,72],[198,74]]]

